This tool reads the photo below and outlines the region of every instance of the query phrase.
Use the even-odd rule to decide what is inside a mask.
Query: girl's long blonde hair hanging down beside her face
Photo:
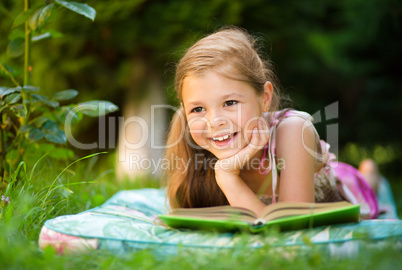
[[[264,93],[264,83],[270,81],[274,88],[270,110],[278,110],[280,96],[277,79],[271,61],[260,56],[257,41],[246,31],[230,27],[196,42],[186,51],[176,68],[175,89],[179,100],[182,100],[185,78],[214,70],[248,83],[260,95]],[[213,168],[216,157],[195,145],[183,108],[180,108],[172,119],[165,153],[170,162],[170,168],[165,171],[170,207],[229,204],[215,180]]]

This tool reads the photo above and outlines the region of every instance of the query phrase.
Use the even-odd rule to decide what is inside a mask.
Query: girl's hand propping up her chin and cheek
[[[250,143],[235,155],[218,160],[215,164],[215,175],[240,175],[240,170],[261,150],[269,141],[269,127],[262,117],[258,119],[257,128],[254,128]]]

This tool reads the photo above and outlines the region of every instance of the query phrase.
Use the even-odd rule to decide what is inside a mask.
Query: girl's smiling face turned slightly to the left
[[[231,157],[250,143],[272,96],[269,82],[258,95],[247,83],[214,71],[185,78],[182,90],[191,137],[218,159]]]

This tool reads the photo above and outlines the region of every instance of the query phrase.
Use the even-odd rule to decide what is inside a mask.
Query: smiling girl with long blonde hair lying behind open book
[[[177,66],[175,87],[180,109],[166,152],[172,208],[230,204],[259,213],[277,201],[364,200],[336,177],[335,167],[349,167],[334,163],[312,117],[279,110],[272,64],[243,30],[223,29],[189,48]],[[374,165],[365,170],[373,178]],[[370,209],[377,207],[373,200],[362,207],[366,217],[377,214]]]

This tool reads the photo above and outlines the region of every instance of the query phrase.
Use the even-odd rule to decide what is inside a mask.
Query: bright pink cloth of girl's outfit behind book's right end
[[[331,162],[331,167],[334,169],[335,178],[342,183],[338,189],[344,198],[353,204],[360,204],[360,218],[376,218],[379,213],[377,196],[363,175],[346,163]]]

